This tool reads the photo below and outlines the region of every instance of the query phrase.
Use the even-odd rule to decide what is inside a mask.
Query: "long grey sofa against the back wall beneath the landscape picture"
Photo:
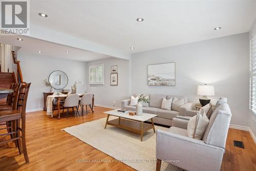
[[[187,102],[187,97],[185,96],[172,96],[172,95],[160,95],[160,94],[150,94],[150,104],[149,107],[143,107],[144,113],[156,114],[154,117],[154,123],[159,123],[167,126],[172,126],[173,118],[177,115],[186,116],[186,110],[192,110],[194,104]],[[177,97],[178,99],[184,98],[185,104],[180,107],[180,111],[174,110],[163,110],[161,109],[163,98],[169,99],[172,97]],[[130,106],[130,99],[122,100],[121,108],[129,111],[136,111],[136,106]],[[148,120],[150,121],[150,120]]]

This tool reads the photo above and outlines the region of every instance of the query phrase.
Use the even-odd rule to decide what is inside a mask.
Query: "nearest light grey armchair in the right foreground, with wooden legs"
[[[202,140],[187,137],[188,120],[184,119],[174,118],[168,131],[157,130],[157,170],[162,160],[179,161],[172,164],[186,170],[220,170],[230,118],[228,104],[220,104],[211,114]]]

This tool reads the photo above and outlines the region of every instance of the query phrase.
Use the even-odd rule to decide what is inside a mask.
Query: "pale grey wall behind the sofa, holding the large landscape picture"
[[[248,33],[136,53],[131,58],[131,93],[186,95],[197,101],[197,86],[215,86],[217,99],[227,97],[231,124],[248,125]],[[147,86],[147,65],[176,62],[176,86]],[[212,100],[213,102],[215,100]]]

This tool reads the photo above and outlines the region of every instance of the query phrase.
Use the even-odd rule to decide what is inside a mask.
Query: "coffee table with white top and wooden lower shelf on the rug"
[[[145,132],[147,132],[148,130],[153,129],[154,133],[156,133],[153,118],[156,117],[157,115],[143,113],[142,116],[137,116],[137,115],[131,116],[131,115],[129,115],[129,113],[122,114],[122,113],[117,112],[117,110],[107,111],[104,113],[108,115],[106,117],[105,129],[106,129],[106,125],[120,127],[121,129],[139,134],[140,141],[143,140],[143,134]],[[110,115],[117,116],[119,118],[109,121]],[[146,121],[148,119],[151,119],[152,124],[143,123],[144,121]]]

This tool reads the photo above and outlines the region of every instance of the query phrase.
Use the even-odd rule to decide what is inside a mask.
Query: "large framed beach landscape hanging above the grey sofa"
[[[175,62],[147,66],[148,86],[175,86]]]

